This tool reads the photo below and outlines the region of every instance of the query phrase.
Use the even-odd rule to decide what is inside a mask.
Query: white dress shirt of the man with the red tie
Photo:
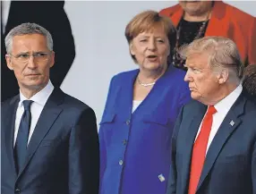
[[[243,90],[243,87],[240,84],[233,92],[231,92],[228,96],[226,96],[225,98],[220,100],[216,105],[214,105],[214,107],[217,110],[217,113],[213,114],[213,117],[212,117],[212,125],[211,125],[211,130],[209,132],[209,140],[208,140],[208,145],[207,145],[207,149],[206,149],[206,154],[208,152],[208,149],[209,149],[209,146],[210,146],[212,140],[214,139],[214,137],[218,131],[218,128],[220,127],[220,124],[224,121],[226,114],[230,110],[231,106],[234,105],[235,100],[240,96],[240,94],[242,93],[242,90]],[[204,114],[204,116],[205,116],[205,114]],[[201,131],[201,125],[197,132],[196,138],[198,137],[200,131]]]

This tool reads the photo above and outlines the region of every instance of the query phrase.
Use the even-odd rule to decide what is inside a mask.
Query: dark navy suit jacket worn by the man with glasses
[[[98,194],[98,131],[93,110],[54,89],[15,172],[13,131],[19,96],[2,104],[1,193]]]

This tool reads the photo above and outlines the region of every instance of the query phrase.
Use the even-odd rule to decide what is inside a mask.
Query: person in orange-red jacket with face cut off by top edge
[[[177,28],[175,51],[194,39],[220,36],[235,41],[245,66],[256,63],[256,19],[249,13],[222,1],[179,1],[160,14],[169,17]],[[178,52],[172,63],[186,70]]]

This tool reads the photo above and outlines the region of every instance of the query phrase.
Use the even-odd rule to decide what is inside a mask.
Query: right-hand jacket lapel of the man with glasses
[[[21,167],[21,171],[18,174],[18,178],[29,164],[30,159],[35,154],[36,150],[42,139],[47,135],[47,131],[51,129],[51,126],[55,122],[58,115],[62,112],[62,108],[59,106],[62,104],[64,93],[60,89],[54,89],[53,93],[47,100],[47,104],[42,110],[39,116],[38,123],[35,127],[33,135],[30,139],[30,143],[27,151],[27,158],[25,164]]]

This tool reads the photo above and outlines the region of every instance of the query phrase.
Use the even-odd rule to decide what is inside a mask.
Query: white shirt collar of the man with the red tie
[[[242,93],[243,86],[239,84],[233,92],[231,92],[228,96],[220,100],[214,107],[216,108],[218,113],[227,114],[230,110],[231,106],[234,105],[235,100],[240,96]]]

